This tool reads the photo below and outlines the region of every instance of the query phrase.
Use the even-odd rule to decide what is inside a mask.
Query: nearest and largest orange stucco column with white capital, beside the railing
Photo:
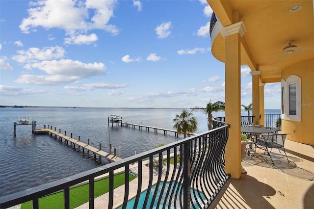
[[[241,176],[241,50],[240,39],[246,32],[243,22],[219,29],[225,38],[225,122],[230,124],[226,145],[225,171],[232,178]]]

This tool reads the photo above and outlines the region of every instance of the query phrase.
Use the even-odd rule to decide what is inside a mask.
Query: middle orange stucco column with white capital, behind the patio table
[[[252,115],[253,118],[252,124],[260,124],[260,75],[262,71],[252,71]]]

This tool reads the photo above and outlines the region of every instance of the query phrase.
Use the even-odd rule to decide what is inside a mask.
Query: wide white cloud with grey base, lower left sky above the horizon
[[[83,63],[72,59],[42,61],[29,64],[27,68],[37,68],[50,75],[59,75],[69,78],[88,78],[105,74],[106,67],[103,63]]]

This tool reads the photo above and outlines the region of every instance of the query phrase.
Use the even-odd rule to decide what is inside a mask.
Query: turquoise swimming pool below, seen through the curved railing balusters
[[[167,190],[168,190],[169,184],[170,184],[170,183],[168,182],[168,183],[166,183],[166,185],[165,185],[165,189],[164,189],[164,192],[163,192],[162,198],[161,198],[161,204],[164,203],[164,200],[165,200],[165,197],[166,197],[166,194],[167,194]],[[157,208],[157,202],[158,202],[158,199],[159,199],[159,196],[160,196],[160,191],[161,191],[161,189],[162,189],[162,185],[163,185],[163,182],[161,182],[160,185],[159,185],[159,187],[158,187],[158,193],[157,193],[157,196],[156,196],[156,199],[155,199],[155,202],[154,202],[154,207],[153,207],[153,209],[156,209],[156,208]],[[174,183],[172,183],[172,185],[171,185],[171,188],[170,188],[171,190],[172,190],[173,186],[174,186]],[[180,186],[180,188],[181,188],[181,184],[178,184],[178,183],[177,183],[175,189],[177,189],[178,186]],[[179,189],[180,189],[180,188],[179,188]],[[150,206],[149,204],[150,204],[150,203],[152,202],[152,200],[153,200],[153,196],[154,196],[155,189],[156,189],[156,184],[153,185],[152,188],[151,188],[151,192],[150,192],[149,198],[148,198],[148,200],[147,200],[147,203],[148,203],[147,208],[149,208],[149,206]],[[147,193],[147,190],[145,190],[144,192],[141,193],[141,195],[140,195],[140,197],[139,197],[139,200],[138,200],[138,205],[137,205],[137,208],[138,208],[138,209],[143,209],[143,205],[144,205],[146,193]],[[201,202],[201,199],[205,199],[205,195],[204,195],[203,193],[201,193],[201,192],[200,192],[200,195],[198,195],[198,192],[196,192],[196,198],[194,197],[194,194],[192,194],[192,193],[193,193],[193,189],[191,189],[191,197],[192,197],[192,201],[193,201],[193,202],[195,202],[196,199],[199,200],[198,202]],[[166,208],[168,208],[168,205],[169,205],[169,198],[170,198],[170,195],[169,195],[168,198],[167,198]],[[179,197],[178,197],[178,198],[179,198]],[[132,209],[133,206],[134,206],[134,203],[135,203],[135,197],[134,197],[133,199],[131,199],[131,200],[128,201],[127,209]],[[171,200],[171,207],[170,207],[170,208],[171,208],[171,209],[172,209],[172,208],[173,208],[173,209],[175,208],[175,207],[174,207],[174,197],[173,197],[172,200]],[[180,208],[180,205],[177,204],[177,208]],[[120,208],[118,208],[118,209],[122,209],[122,206],[121,206]]]

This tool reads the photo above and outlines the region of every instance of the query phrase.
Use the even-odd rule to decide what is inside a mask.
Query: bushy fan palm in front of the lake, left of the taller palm
[[[186,133],[193,133],[197,130],[197,121],[193,117],[193,112],[188,112],[186,109],[183,109],[181,114],[176,114],[176,118],[173,119],[175,125],[174,129],[177,130],[177,133],[183,133],[184,138],[186,138]]]

